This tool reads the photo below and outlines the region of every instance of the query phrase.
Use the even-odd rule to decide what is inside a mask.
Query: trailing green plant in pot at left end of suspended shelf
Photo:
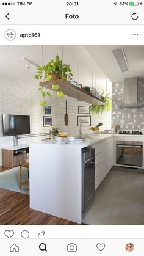
[[[73,74],[71,73],[71,68],[67,64],[63,64],[62,60],[60,60],[59,56],[57,55],[55,59],[52,59],[48,64],[44,65],[43,67],[37,67],[37,73],[35,74],[35,79],[43,81],[52,81],[51,89],[57,92],[57,96],[63,97],[64,94],[62,90],[59,90],[59,82],[56,83],[56,80],[70,79]],[[38,91],[41,92],[42,99],[40,100],[41,107],[45,106],[47,101],[45,97],[50,97],[51,93],[47,92],[43,89],[43,86],[38,88]]]

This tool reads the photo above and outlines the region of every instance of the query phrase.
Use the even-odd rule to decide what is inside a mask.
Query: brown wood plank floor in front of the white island
[[[29,196],[0,188],[0,225],[78,225],[29,208]]]

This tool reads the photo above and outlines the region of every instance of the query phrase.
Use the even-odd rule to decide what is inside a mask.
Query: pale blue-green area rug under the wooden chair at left
[[[28,180],[27,168],[22,167],[22,181]],[[19,188],[19,166],[0,173],[0,188],[29,195],[29,186]]]

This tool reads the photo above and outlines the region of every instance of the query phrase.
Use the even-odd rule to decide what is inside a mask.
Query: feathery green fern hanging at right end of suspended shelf
[[[104,96],[104,91],[101,94],[101,96],[104,97],[104,103],[105,103],[104,105],[95,104],[95,105],[90,106],[90,112],[93,115],[102,114],[104,111],[109,112],[112,109],[112,99],[110,97],[108,97],[109,94],[110,93],[108,93],[106,96]]]

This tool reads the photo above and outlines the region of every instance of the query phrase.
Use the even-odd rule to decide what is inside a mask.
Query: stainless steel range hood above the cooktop
[[[137,78],[124,79],[124,103],[118,108],[142,108],[144,103],[139,103],[137,98]]]

